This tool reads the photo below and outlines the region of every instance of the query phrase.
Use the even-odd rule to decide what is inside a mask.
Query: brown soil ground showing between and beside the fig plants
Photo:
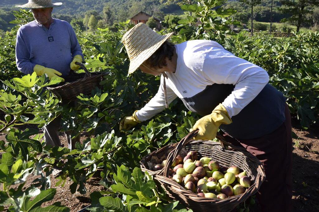
[[[311,128],[304,130],[297,121],[292,121],[293,132],[293,211],[319,211],[319,129]],[[30,127],[30,126],[29,126]],[[4,134],[0,133],[0,140],[4,140]],[[67,141],[63,133],[60,133],[61,143],[67,146]],[[85,140],[82,135],[81,141]],[[27,179],[26,187],[36,179],[32,176]],[[64,187],[55,186],[56,179],[51,178],[51,185],[56,188],[56,196],[52,201],[46,202],[47,206],[54,202],[61,202],[71,209],[71,211],[79,211],[90,205],[90,194],[93,191],[103,190],[104,187],[99,184],[100,176],[96,173],[93,178],[87,181],[85,187],[87,193],[85,195],[70,193],[69,186],[71,180],[67,180]],[[254,207],[251,211],[258,211],[258,207]]]

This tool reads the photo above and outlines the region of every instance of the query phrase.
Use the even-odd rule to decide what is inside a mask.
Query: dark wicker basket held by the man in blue
[[[48,89],[54,93],[57,97],[61,98],[62,101],[69,102],[79,94],[89,95],[95,87],[101,88],[100,82],[104,79],[103,77],[108,73],[89,73],[86,67],[82,63],[76,62],[77,65],[81,66],[85,73],[76,74],[73,71],[69,76],[65,77],[65,82],[59,84],[57,87],[48,87]],[[66,82],[70,82],[65,84]]]

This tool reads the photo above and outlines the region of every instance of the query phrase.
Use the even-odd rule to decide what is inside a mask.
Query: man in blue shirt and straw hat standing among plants
[[[39,76],[47,74],[49,79],[63,78],[70,74],[70,69],[79,69],[75,62],[81,63],[83,54],[73,28],[68,22],[51,16],[53,7],[61,5],[51,0],[29,0],[27,4],[16,5],[30,9],[35,19],[21,26],[17,33],[17,67],[24,74],[35,72]],[[42,128],[46,145],[61,146],[60,120],[58,117]],[[65,136],[69,148],[75,149],[79,137],[71,140],[70,134],[68,131]]]

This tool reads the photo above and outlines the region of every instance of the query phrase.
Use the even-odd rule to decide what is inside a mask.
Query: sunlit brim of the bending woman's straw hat
[[[162,44],[167,41],[174,32],[168,33],[166,35],[162,35],[159,37],[160,39],[156,40],[152,47],[145,49],[143,52],[139,53],[133,60],[130,61],[130,67],[129,67],[129,74],[132,74],[133,72],[136,71],[136,69],[142,65],[142,63],[150,58],[153,53],[156,52],[156,50],[159,49]]]

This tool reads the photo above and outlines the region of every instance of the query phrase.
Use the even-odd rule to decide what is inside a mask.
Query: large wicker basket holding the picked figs
[[[192,138],[196,136],[197,133],[198,131],[190,132],[179,143],[165,146],[145,156],[141,161],[142,171],[147,171],[149,174],[153,175],[153,179],[157,187],[162,187],[168,197],[174,201],[180,201],[188,209],[198,212],[231,211],[240,203],[246,201],[249,196],[258,191],[265,179],[263,165],[255,156],[247,152],[246,149],[232,146],[230,143],[224,141],[223,137],[220,135],[218,135],[217,138],[226,145],[229,145],[231,149],[224,148],[219,142],[207,140],[195,141]],[[177,155],[184,157],[187,152],[194,150],[198,151],[199,157],[210,157],[213,160],[218,161],[221,166],[238,166],[245,170],[251,177],[252,185],[245,191],[245,193],[232,196],[224,200],[203,198],[191,191],[185,190],[174,180],[168,178],[169,168],[173,159],[176,158]],[[156,161],[157,159],[159,161]],[[152,171],[153,164],[159,163],[164,159],[167,159],[166,166],[159,171]]]

